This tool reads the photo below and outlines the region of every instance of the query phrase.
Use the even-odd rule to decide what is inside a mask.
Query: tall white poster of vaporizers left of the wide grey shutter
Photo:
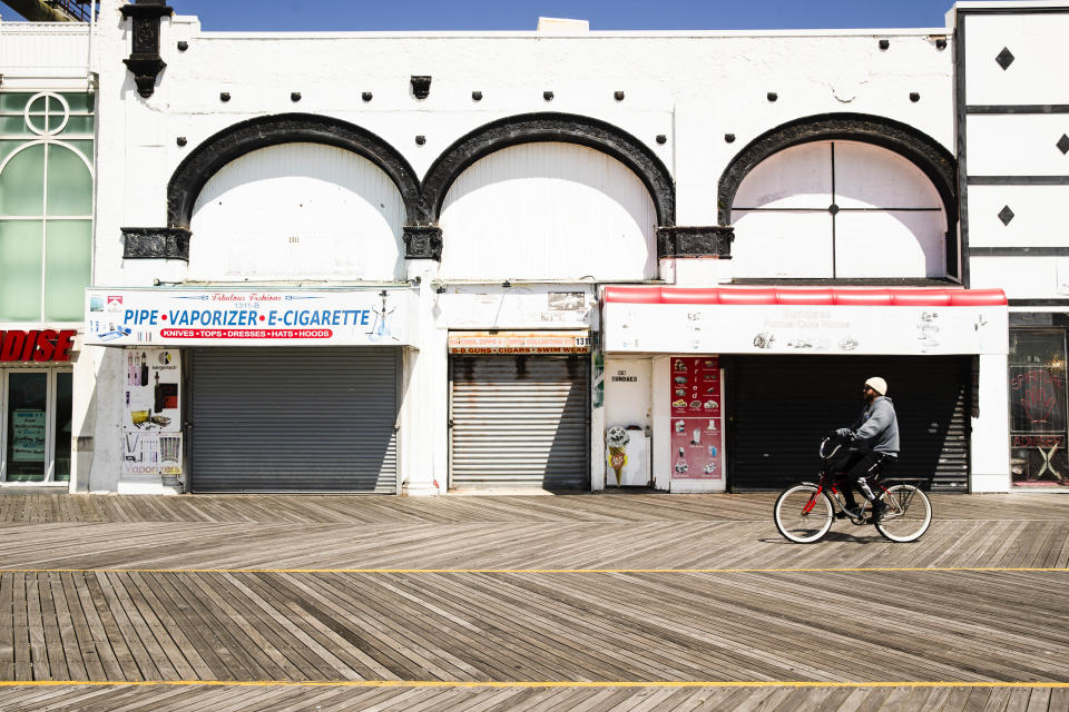
[[[122,352],[122,474],[182,474],[182,362],[177,349]]]

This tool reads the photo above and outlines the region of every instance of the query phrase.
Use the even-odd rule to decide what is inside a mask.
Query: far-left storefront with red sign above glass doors
[[[0,330],[0,482],[70,479],[75,334]]]

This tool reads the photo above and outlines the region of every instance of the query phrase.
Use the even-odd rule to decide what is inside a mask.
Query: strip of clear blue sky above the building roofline
[[[533,30],[538,17],[594,30],[943,27],[952,0],[170,0],[205,30]],[[0,2],[0,17],[19,20]]]

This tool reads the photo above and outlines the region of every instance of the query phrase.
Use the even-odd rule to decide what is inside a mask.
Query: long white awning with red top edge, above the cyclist
[[[612,286],[609,353],[1006,354],[1001,289]]]

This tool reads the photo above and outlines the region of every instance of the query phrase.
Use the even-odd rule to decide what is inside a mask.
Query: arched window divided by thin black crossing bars
[[[736,277],[945,278],[939,191],[894,151],[794,146],[756,166],[732,207]]]

